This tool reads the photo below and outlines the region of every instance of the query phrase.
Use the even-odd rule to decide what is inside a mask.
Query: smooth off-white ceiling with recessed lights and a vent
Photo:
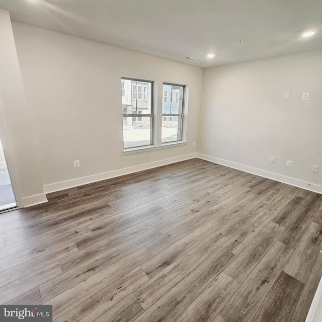
[[[0,8],[13,21],[201,67],[322,49],[321,0],[0,0]],[[302,37],[307,30],[316,34]]]

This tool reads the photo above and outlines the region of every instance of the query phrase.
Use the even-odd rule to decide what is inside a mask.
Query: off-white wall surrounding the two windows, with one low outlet
[[[45,191],[194,155],[202,68],[20,23],[13,22],[13,31]],[[123,154],[122,75],[156,81],[159,106],[163,82],[189,85],[186,145]]]

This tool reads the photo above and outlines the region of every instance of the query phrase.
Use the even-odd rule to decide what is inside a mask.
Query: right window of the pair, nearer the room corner
[[[185,87],[182,85],[164,84],[163,91],[170,91],[170,102],[162,104],[162,143],[169,143],[182,140],[183,113],[184,113],[184,93]],[[175,100],[174,100],[175,93]],[[168,117],[168,122],[167,122]]]

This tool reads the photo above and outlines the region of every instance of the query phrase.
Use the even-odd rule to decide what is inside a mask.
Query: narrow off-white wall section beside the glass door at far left
[[[46,201],[9,12],[0,9],[0,132],[18,205]]]

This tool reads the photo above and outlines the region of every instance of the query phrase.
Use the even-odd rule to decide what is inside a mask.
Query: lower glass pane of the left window
[[[135,121],[133,121],[133,119],[135,119]],[[141,119],[141,121],[138,119]],[[123,117],[123,139],[124,148],[150,145],[151,117]]]

